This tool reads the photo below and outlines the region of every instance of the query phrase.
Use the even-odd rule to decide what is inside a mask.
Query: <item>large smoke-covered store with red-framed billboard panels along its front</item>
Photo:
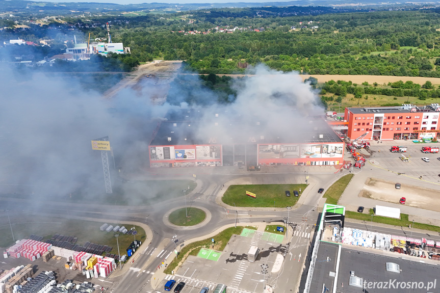
[[[149,144],[150,167],[343,164],[344,143],[321,117],[279,125],[248,116],[227,109],[168,112]],[[293,119],[304,123],[296,127]]]

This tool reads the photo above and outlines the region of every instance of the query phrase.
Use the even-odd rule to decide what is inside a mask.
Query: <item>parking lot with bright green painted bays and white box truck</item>
[[[286,244],[279,243],[281,235],[252,230],[254,233],[233,235],[223,252],[202,248],[197,256],[189,256],[184,265],[175,272],[175,276],[168,275],[167,280],[174,279],[185,282],[184,293],[198,293],[202,287],[215,288],[215,284],[225,284],[229,292],[263,290],[263,280],[270,281],[272,274],[281,268],[283,255],[286,254]],[[260,248],[254,262],[248,261],[247,253],[251,246]],[[215,256],[213,256],[215,254]],[[267,264],[266,273],[262,272],[262,264]],[[240,288],[235,289],[234,288]]]

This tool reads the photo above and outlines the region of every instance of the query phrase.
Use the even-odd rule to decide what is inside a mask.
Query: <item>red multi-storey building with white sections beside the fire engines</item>
[[[440,138],[440,106],[403,104],[390,107],[345,108],[347,137],[354,140],[420,140]]]

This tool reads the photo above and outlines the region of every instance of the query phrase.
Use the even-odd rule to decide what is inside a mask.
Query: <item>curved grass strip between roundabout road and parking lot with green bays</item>
[[[214,238],[214,241],[215,241],[214,250],[223,251],[223,249],[225,248],[226,244],[228,243],[230,237],[233,234],[240,235],[244,228],[252,229],[251,227],[241,227],[241,226],[230,227],[230,228],[227,228],[227,229],[221,231],[220,233],[218,233],[214,237],[212,237],[212,238]],[[213,245],[213,243],[211,241],[212,238],[206,238],[204,240],[197,241],[197,242],[191,243],[187,246],[184,246],[182,248],[182,250],[180,250],[179,254],[167,266],[164,273],[171,274],[171,271],[174,271],[177,268],[177,265],[180,261],[182,261],[182,262],[185,261],[187,259],[188,255],[197,255],[201,248],[212,249],[212,245]]]

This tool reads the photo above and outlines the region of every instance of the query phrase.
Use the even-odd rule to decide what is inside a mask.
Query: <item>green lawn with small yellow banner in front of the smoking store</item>
[[[222,200],[228,205],[242,207],[293,206],[299,199],[293,196],[293,191],[301,189],[302,193],[306,187],[307,184],[230,185]],[[290,197],[286,196],[286,190],[290,191]],[[247,196],[246,191],[256,194],[256,198]]]

